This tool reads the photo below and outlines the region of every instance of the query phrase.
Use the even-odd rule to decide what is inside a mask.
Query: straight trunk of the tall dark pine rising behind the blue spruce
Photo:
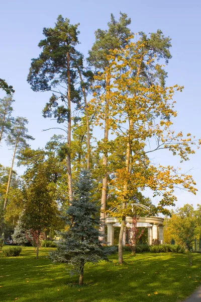
[[[71,173],[71,155],[70,155],[70,147],[71,147],[71,100],[70,100],[70,56],[67,52],[66,55],[67,59],[67,81],[68,81],[68,136],[67,136],[67,142],[68,142],[68,154],[67,154],[67,173],[68,173],[68,195],[69,195],[69,201],[72,202],[72,173]]]

